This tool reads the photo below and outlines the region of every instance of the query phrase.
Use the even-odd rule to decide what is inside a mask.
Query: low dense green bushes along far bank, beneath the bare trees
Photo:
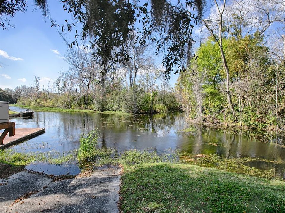
[[[84,105],[83,96],[67,96],[66,94],[50,94],[50,98],[41,93],[38,99],[20,97],[19,105],[59,107],[66,109],[91,109],[95,111],[124,111],[137,114],[166,113],[177,111],[178,104],[173,93],[167,95],[158,91],[145,93],[143,90],[134,89],[115,90],[103,99],[100,96],[88,96],[88,105]],[[85,97],[86,99],[86,97]]]

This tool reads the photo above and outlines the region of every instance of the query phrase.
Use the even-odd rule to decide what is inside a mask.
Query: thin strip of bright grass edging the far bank
[[[10,104],[9,106],[22,107],[26,109],[32,109],[34,111],[43,111],[43,112],[84,112],[84,113],[101,113],[101,114],[116,114],[116,115],[131,115],[130,113],[121,112],[121,111],[94,111],[90,109],[64,109],[58,107],[43,107],[43,106],[26,106],[19,104]]]

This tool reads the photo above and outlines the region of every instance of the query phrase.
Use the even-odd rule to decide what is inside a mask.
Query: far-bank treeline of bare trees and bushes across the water
[[[40,86],[35,76],[33,85],[1,90],[3,100],[26,106],[124,111],[154,114],[179,110],[173,88],[164,80],[163,69],[145,56],[144,47],[135,47],[128,64],[116,64],[106,72],[91,51],[68,49],[65,60],[70,68],[61,71],[54,82]]]

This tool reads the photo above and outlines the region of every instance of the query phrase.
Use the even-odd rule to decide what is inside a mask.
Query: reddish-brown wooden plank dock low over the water
[[[3,140],[3,145],[0,145],[0,149],[12,146],[15,143],[34,138],[45,132],[45,128],[15,128],[15,135],[8,137],[8,135]]]

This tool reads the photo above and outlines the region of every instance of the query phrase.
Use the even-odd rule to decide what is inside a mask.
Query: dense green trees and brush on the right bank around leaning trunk
[[[235,113],[229,107],[219,46],[209,38],[198,48],[199,58],[192,60],[176,83],[175,94],[186,116],[200,123],[284,130],[284,62],[270,57],[258,33],[224,38],[223,45]]]

